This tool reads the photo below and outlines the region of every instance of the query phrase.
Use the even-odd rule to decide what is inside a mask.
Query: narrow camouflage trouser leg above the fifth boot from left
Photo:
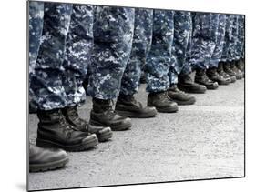
[[[120,94],[134,95],[138,92],[141,67],[152,41],[153,10],[137,8],[135,10],[134,34],[128,64],[122,76]]]

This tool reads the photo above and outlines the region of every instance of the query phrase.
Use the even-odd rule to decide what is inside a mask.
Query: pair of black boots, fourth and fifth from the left
[[[129,129],[131,118],[149,118],[157,115],[155,107],[144,107],[134,96],[118,96],[114,110],[112,100],[93,98],[93,109],[90,114],[90,124],[95,126],[110,126],[114,131]]]

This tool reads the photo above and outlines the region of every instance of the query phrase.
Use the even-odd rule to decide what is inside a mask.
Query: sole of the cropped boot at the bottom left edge
[[[48,170],[55,170],[57,168],[65,167],[69,161],[68,157],[60,159],[54,162],[44,163],[44,164],[29,164],[29,172],[42,172]]]

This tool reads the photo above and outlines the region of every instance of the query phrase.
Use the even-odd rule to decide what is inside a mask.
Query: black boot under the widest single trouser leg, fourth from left
[[[120,116],[112,107],[112,100],[93,98],[93,109],[90,114],[90,124],[94,126],[110,126],[113,131],[129,129],[131,119]]]

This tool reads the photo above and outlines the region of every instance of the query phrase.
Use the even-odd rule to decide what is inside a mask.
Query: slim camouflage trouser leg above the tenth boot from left
[[[218,14],[218,16],[219,25],[217,31],[216,46],[210,58],[210,67],[218,67],[219,62],[221,61],[221,55],[225,41],[226,15]]]

